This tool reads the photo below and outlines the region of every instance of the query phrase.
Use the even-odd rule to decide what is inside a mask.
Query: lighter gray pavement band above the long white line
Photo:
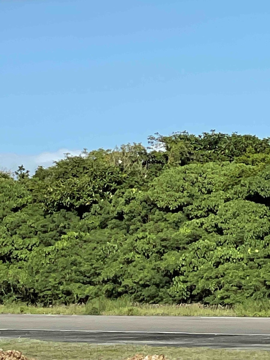
[[[0,329],[266,334],[270,318],[187,316],[0,315]]]

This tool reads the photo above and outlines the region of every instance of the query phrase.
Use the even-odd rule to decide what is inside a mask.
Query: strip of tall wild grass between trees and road
[[[61,315],[138,315],[138,316],[270,316],[270,299],[264,301],[247,300],[234,307],[202,304],[142,304],[133,303],[128,298],[111,300],[96,298],[84,305],[27,305],[10,302],[0,305],[0,314],[61,314]]]

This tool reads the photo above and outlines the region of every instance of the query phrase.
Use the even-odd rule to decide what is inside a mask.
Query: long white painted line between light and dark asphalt
[[[72,332],[72,333],[124,333],[124,334],[179,334],[179,335],[230,335],[230,336],[269,336],[269,334],[245,333],[193,333],[177,331],[121,331],[121,330],[67,330],[67,329],[0,329],[0,331],[45,331],[45,332]]]

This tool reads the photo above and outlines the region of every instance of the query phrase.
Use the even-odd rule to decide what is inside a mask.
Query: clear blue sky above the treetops
[[[269,0],[0,1],[0,168],[167,135],[270,136]]]

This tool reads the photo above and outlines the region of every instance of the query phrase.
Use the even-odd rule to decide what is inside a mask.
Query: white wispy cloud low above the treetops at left
[[[59,149],[56,152],[44,152],[37,155],[2,153],[0,154],[0,169],[13,172],[18,169],[18,166],[23,165],[27,170],[30,170],[30,174],[33,175],[38,166],[51,166],[54,161],[63,159],[66,153],[79,155],[81,150]]]

